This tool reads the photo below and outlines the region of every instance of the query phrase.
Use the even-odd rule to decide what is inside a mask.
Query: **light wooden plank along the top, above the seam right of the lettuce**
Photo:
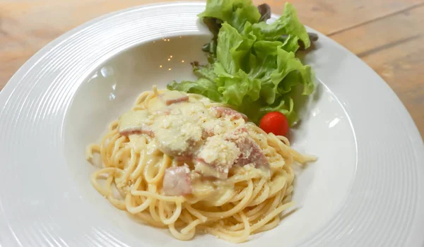
[[[0,0],[0,64],[2,64],[0,89],[32,54],[62,33],[105,13],[157,1],[164,0]],[[306,25],[328,34],[411,8],[423,1],[292,0],[291,2],[298,8],[300,19]],[[256,4],[264,2],[269,3],[275,13],[281,13],[285,1],[255,1]]]

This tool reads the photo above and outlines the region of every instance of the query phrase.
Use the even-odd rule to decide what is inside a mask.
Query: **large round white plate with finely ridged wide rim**
[[[90,185],[94,167],[84,159],[136,95],[192,78],[189,61],[204,59],[209,39],[196,18],[203,9],[160,4],[102,16],[11,78],[0,94],[0,246],[230,245],[213,236],[177,241],[135,222]],[[305,61],[320,83],[293,140],[319,161],[298,173],[300,210],[242,246],[423,246],[424,147],[408,112],[324,35]]]

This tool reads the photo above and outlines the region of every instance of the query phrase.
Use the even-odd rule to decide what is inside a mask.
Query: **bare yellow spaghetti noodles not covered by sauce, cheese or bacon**
[[[131,111],[150,110],[163,92],[155,87],[143,92]],[[204,104],[206,109],[223,106],[201,95],[189,95],[189,102]],[[166,195],[163,181],[167,169],[183,166],[184,161],[161,152],[151,135],[120,133],[119,121],[113,121],[100,144],[86,149],[88,160],[96,153],[102,160],[102,168],[92,174],[91,183],[114,207],[146,224],[167,227],[176,239],[189,240],[206,232],[242,243],[252,234],[278,225],[281,214],[293,206],[292,165],[315,160],[293,150],[283,136],[267,134],[253,123],[245,126],[269,161],[269,176],[257,168],[234,167],[227,179],[202,182],[204,195]]]

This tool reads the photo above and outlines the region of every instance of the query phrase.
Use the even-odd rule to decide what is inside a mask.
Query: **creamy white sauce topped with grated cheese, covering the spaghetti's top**
[[[148,109],[120,116],[119,132],[130,136],[134,149],[139,142],[137,136],[154,138],[152,143],[161,152],[189,164],[192,195],[219,205],[234,193],[233,188],[225,186],[225,179],[237,167],[237,161],[261,173],[256,168],[263,170],[268,164],[259,145],[249,138],[255,133],[248,131],[245,116],[212,104],[184,92],[165,91],[148,101]],[[261,162],[266,164],[257,164],[258,160],[250,157],[262,157]]]

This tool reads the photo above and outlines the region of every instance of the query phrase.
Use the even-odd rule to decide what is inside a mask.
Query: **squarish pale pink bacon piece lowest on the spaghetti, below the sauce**
[[[193,191],[188,167],[172,167],[165,170],[163,192],[165,195],[188,195]]]

